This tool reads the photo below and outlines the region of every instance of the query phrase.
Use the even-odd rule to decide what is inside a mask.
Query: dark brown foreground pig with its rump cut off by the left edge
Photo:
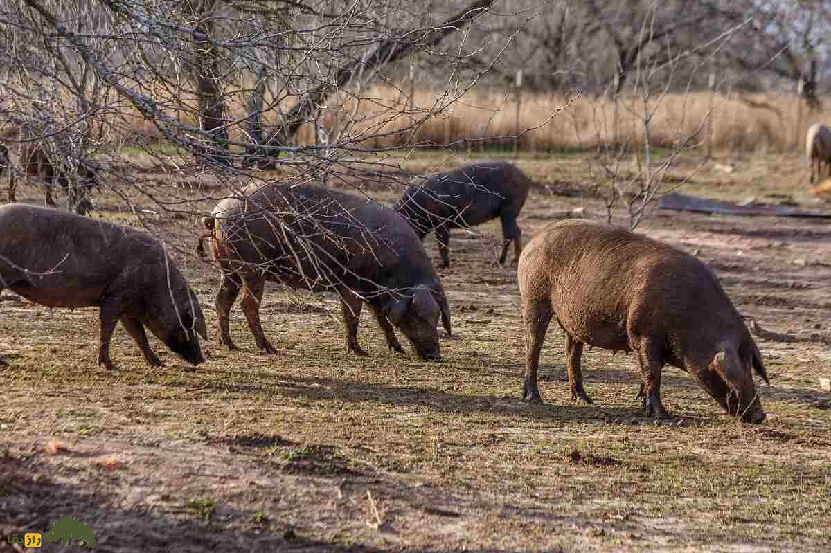
[[[193,365],[204,358],[204,316],[165,248],[134,228],[23,203],[0,207],[0,291],[47,307],[98,306],[98,365],[115,369],[110,340],[121,325],[146,362],[161,366],[145,326]]]

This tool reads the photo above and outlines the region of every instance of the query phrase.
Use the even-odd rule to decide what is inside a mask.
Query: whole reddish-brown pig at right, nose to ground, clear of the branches
[[[647,416],[669,418],[661,369],[686,370],[728,414],[761,423],[751,367],[766,383],[759,348],[710,267],[686,252],[586,219],[548,225],[519,258],[525,328],[524,399],[542,403],[537,367],[552,317],[565,332],[573,399],[583,389],[583,344],[634,351]]]

